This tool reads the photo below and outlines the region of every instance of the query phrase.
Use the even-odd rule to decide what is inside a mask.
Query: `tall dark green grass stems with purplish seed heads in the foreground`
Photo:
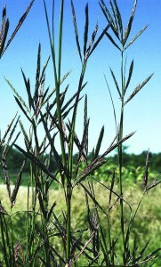
[[[149,242],[144,244],[144,247],[139,247],[136,239],[133,238],[133,223],[137,219],[136,215],[141,206],[142,199],[151,190],[156,187],[159,181],[152,184],[148,183],[149,171],[149,152],[147,154],[144,181],[144,190],[142,192],[141,200],[138,206],[133,207],[125,198],[123,188],[123,142],[129,139],[132,134],[124,137],[124,112],[125,105],[133,99],[136,93],[146,85],[150,75],[140,85],[138,85],[133,93],[126,99],[126,91],[130,85],[133,74],[133,61],[130,64],[129,72],[126,75],[126,61],[125,51],[134,43],[134,41],[141,36],[141,31],[129,40],[131,29],[133,26],[133,17],[136,9],[137,1],[133,4],[133,11],[129,18],[129,22],[125,30],[123,29],[122,16],[117,6],[117,1],[110,1],[109,7],[100,2],[101,10],[107,19],[107,26],[102,30],[101,35],[98,36],[99,25],[96,22],[93,33],[89,33],[89,7],[85,6],[85,28],[84,40],[80,41],[80,36],[77,29],[76,10],[73,1],[71,0],[71,12],[74,24],[74,31],[76,36],[76,47],[81,61],[80,76],[77,82],[76,93],[67,99],[68,86],[65,88],[64,81],[68,78],[70,72],[63,74],[61,71],[62,62],[62,36],[63,36],[63,19],[64,19],[64,1],[60,1],[60,21],[58,34],[54,35],[54,1],[52,2],[52,23],[49,20],[47,4],[44,0],[44,15],[48,29],[49,42],[52,54],[52,68],[55,87],[51,91],[46,87],[45,72],[47,71],[48,62],[46,60],[42,68],[41,62],[41,44],[38,45],[37,64],[36,64],[36,82],[35,89],[32,92],[31,82],[27,78],[23,69],[21,75],[24,79],[24,85],[28,96],[28,102],[24,101],[11,82],[5,77],[6,82],[12,88],[15,101],[20,110],[25,115],[29,122],[29,129],[26,130],[25,124],[20,121],[20,117],[12,119],[12,123],[8,126],[4,138],[1,141],[2,146],[2,166],[4,168],[4,178],[8,197],[10,199],[10,209],[4,209],[3,204],[0,206],[0,220],[1,220],[1,241],[0,246],[2,250],[1,263],[3,266],[115,266],[121,264],[122,266],[139,266],[144,263],[152,264],[157,261],[159,257],[159,248],[156,247],[149,255],[146,255],[146,248]],[[33,1],[28,7],[32,5]],[[27,11],[28,11],[27,10]],[[27,12],[22,17],[25,18]],[[3,12],[3,21],[5,12]],[[3,22],[5,23],[5,22]],[[7,25],[5,25],[7,28]],[[19,28],[19,27],[18,27]],[[111,34],[109,34],[109,28]],[[7,31],[2,38],[5,38]],[[15,34],[14,34],[15,35]],[[113,35],[113,36],[112,36]],[[113,104],[117,133],[114,140],[111,142],[109,148],[101,154],[101,142],[104,135],[104,127],[96,142],[93,151],[88,151],[88,101],[87,95],[82,96],[82,91],[85,88],[85,71],[88,67],[94,50],[100,44],[103,38],[107,36],[109,41],[117,48],[121,54],[121,85],[117,83],[117,77],[112,69],[110,73],[113,77],[117,88],[117,93],[121,101],[119,123],[117,125],[117,115],[115,104],[112,99],[112,93],[109,87],[109,93]],[[117,41],[115,41],[115,36]],[[5,39],[3,39],[5,41]],[[3,42],[4,42],[3,41]],[[56,42],[58,42],[58,51]],[[83,45],[81,45],[83,43]],[[4,44],[4,43],[3,43]],[[6,46],[7,47],[7,46]],[[5,51],[3,48],[2,54]],[[106,79],[107,81],[107,79]],[[107,85],[108,81],[107,81]],[[78,122],[77,110],[80,101],[85,99],[84,108],[84,126],[82,139],[79,140],[76,134],[76,123]],[[70,114],[70,117],[68,116]],[[11,188],[10,174],[7,170],[7,155],[10,152],[9,143],[13,138],[15,130],[20,125],[20,132],[24,136],[25,149],[16,144],[19,134],[12,141],[16,149],[24,155],[24,161],[20,168],[15,187]],[[42,137],[39,133],[44,133]],[[8,139],[7,139],[8,136]],[[56,149],[55,143],[60,143],[60,151]],[[77,149],[76,164],[74,164],[74,146]],[[107,165],[106,156],[117,148],[118,150],[118,166],[119,166],[119,187],[117,190],[117,175],[115,169],[113,175],[108,182],[100,182],[95,176],[94,172],[99,171],[103,165]],[[16,198],[20,189],[20,182],[23,179],[23,167],[27,158],[30,160],[30,176],[28,178],[28,194],[26,197],[26,210],[17,211],[13,213],[13,206],[16,206]],[[56,162],[55,171],[51,173],[50,166],[52,160]],[[63,192],[65,208],[60,214],[55,210],[55,206],[60,205],[52,200],[49,201],[52,184],[55,183]],[[100,190],[106,190],[109,197],[107,206],[101,204],[100,198],[96,193],[96,186]],[[76,188],[85,193],[86,206],[86,222],[85,227],[77,228],[73,225],[74,214],[72,213],[72,205],[75,200]],[[113,236],[113,229],[111,223],[111,213],[115,206],[120,207],[120,229],[117,237]],[[128,210],[129,216],[125,214]],[[24,236],[19,239],[16,238],[14,232],[13,217],[23,218],[25,224]],[[84,225],[84,222],[82,222]],[[108,226],[105,227],[105,224]],[[132,246],[133,243],[133,246]],[[120,253],[121,250],[121,253]]]

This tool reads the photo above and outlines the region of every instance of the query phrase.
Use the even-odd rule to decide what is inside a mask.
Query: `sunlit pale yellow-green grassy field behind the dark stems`
[[[106,183],[108,185],[108,183]],[[104,189],[99,184],[94,184],[95,189],[95,197],[97,201],[101,204],[101,206],[108,211],[108,201],[109,194],[107,194],[107,190]],[[115,191],[118,188],[116,186]],[[147,195],[145,195],[143,202],[141,203],[140,210],[137,214],[137,218],[133,224],[133,237],[137,239],[137,243],[139,247],[143,247],[146,242],[149,242],[149,246],[147,248],[146,254],[149,255],[151,251],[155,250],[156,247],[160,246],[160,232],[161,232],[161,214],[160,214],[160,199],[159,196],[161,194],[161,187],[157,186],[155,190],[150,190]],[[7,196],[7,190],[4,185],[0,185],[0,196],[1,201],[4,204],[5,210],[10,214],[10,201]],[[142,196],[141,186],[137,184],[127,184],[125,190],[125,200],[128,201],[130,206],[133,206],[133,212],[135,211],[139,199]],[[12,224],[14,229],[14,241],[18,242],[21,240],[22,247],[25,245],[26,239],[26,213],[27,210],[27,200],[28,200],[28,188],[24,186],[20,186],[20,190],[17,196],[16,204],[12,208]],[[54,208],[54,213],[57,216],[62,217],[62,211],[65,211],[65,199],[63,195],[63,190],[50,190],[49,193],[49,206],[56,201],[56,206]],[[115,198],[112,200],[115,202]],[[90,206],[93,210],[93,204],[90,203]],[[36,206],[38,210],[38,205]],[[120,222],[119,222],[119,205],[114,206],[112,211],[110,212],[110,223],[112,236],[114,239],[117,239],[117,236],[120,234]],[[73,230],[84,230],[86,229],[82,239],[88,239],[89,226],[87,223],[87,211],[85,206],[85,191],[77,186],[76,190],[74,190],[72,196],[72,206],[71,206],[71,214],[72,214],[72,229]],[[108,223],[106,216],[99,210],[99,214],[101,215],[101,222],[103,231],[106,239],[108,239]],[[125,207],[125,222],[129,220],[129,208]],[[63,221],[63,218],[61,218]],[[39,219],[38,219],[39,221]],[[127,226],[127,225],[126,225]],[[55,244],[55,242],[57,244]],[[60,250],[60,240],[53,239],[53,244],[57,247],[58,251]],[[133,239],[131,239],[131,246],[133,247]],[[118,255],[122,254],[122,247],[119,242],[117,243],[117,251]],[[61,252],[60,252],[61,253]],[[85,264],[85,259],[80,258],[79,260],[80,266]],[[153,266],[160,266],[161,262],[157,261]],[[94,265],[93,265],[94,266]],[[148,266],[148,265],[147,265]]]

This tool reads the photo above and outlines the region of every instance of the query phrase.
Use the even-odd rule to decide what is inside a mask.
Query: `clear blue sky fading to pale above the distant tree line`
[[[10,33],[15,28],[20,16],[27,8],[30,1],[2,0],[0,10],[4,4],[7,5],[7,16],[10,19]],[[74,0],[76,6],[77,26],[83,41],[84,21],[85,21],[85,4],[86,0]],[[49,12],[52,10],[52,1],[46,0]],[[55,23],[58,26],[58,14],[60,1],[55,1],[56,16]],[[101,12],[97,0],[89,0],[90,11],[90,30],[91,34],[95,23],[99,17],[100,33],[105,27],[106,20]],[[109,1],[105,0],[106,4]],[[122,12],[124,22],[128,20],[133,7],[133,0],[117,0],[117,4]],[[127,66],[134,60],[134,71],[132,85],[129,87],[127,96],[133,92],[136,85],[141,83],[149,74],[154,72],[154,76],[140,93],[125,108],[125,134],[136,131],[136,134],[125,144],[129,145],[129,152],[141,153],[142,150],[152,152],[161,151],[161,1],[160,0],[139,0],[135,18],[133,21],[132,37],[149,24],[149,28],[143,35],[136,40],[135,44],[127,50]],[[56,29],[55,29],[56,32]],[[0,61],[0,128],[2,134],[6,125],[11,121],[17,110],[12,90],[5,83],[4,77],[7,77],[17,91],[26,98],[25,87],[23,85],[20,68],[24,70],[27,77],[31,78],[31,83],[35,85],[36,53],[39,42],[42,44],[42,61],[46,61],[50,54],[48,35],[44,17],[43,0],[36,0],[27,20],[20,28],[20,32],[13,40],[4,57]],[[82,42],[83,44],[83,42]],[[72,70],[70,77],[64,86],[69,83],[69,94],[76,90],[78,77],[81,70],[81,64],[76,53],[76,41],[74,37],[74,28],[70,9],[70,1],[65,0],[65,17],[64,17],[64,37],[63,37],[63,67],[62,73],[65,74],[69,69]],[[119,100],[116,88],[110,77],[109,67],[112,68],[117,76],[120,70],[120,54],[109,43],[108,38],[104,37],[98,49],[93,53],[88,62],[85,81],[88,85],[85,93],[88,94],[88,115],[90,117],[90,150],[95,145],[96,138],[105,125],[105,137],[102,147],[106,150],[115,136],[115,122],[113,110],[109,98],[108,89],[103,75],[105,74],[113,99],[116,103],[117,119],[119,117]],[[46,85],[54,87],[52,77],[52,62],[46,73]],[[76,130],[81,135],[83,128],[83,105],[78,112],[78,123]],[[22,139],[20,138],[20,142]]]

